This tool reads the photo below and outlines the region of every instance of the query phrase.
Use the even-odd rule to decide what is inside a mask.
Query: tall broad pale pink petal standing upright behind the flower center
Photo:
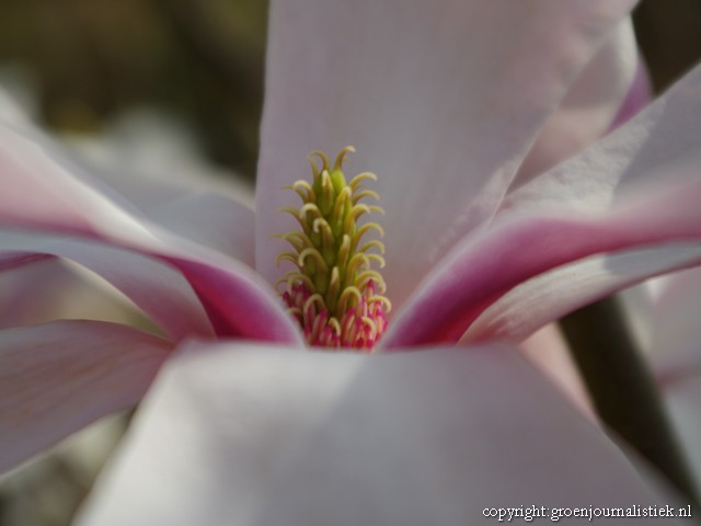
[[[386,279],[401,305],[489,217],[545,118],[633,1],[439,4],[276,1],[256,196],[256,267],[281,271],[280,187],[303,156],[357,147],[387,211]],[[289,195],[288,195],[289,194]],[[288,203],[290,201],[290,203]]]

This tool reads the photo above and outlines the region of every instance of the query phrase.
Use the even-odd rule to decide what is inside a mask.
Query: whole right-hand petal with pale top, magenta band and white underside
[[[434,270],[384,345],[455,341],[522,282],[595,254],[617,252],[605,260],[616,265],[577,264],[522,286],[491,309],[498,320],[471,329],[472,338],[524,338],[586,301],[699,264],[670,243],[701,242],[700,85],[697,68],[629,124],[510,194],[491,229],[463,240]],[[647,248],[658,251],[624,252]]]

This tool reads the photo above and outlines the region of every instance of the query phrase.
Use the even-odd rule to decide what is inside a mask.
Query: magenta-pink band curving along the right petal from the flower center
[[[690,180],[692,176],[689,174]],[[512,288],[593,254],[652,245],[665,250],[675,241],[701,242],[701,181],[691,180],[666,193],[657,190],[653,197],[600,217],[516,217],[474,241],[467,240],[420,286],[380,346],[391,350],[455,342],[482,311]],[[625,278],[620,276],[628,284]],[[571,294],[566,287],[563,281],[563,295]],[[586,293],[583,286],[581,294]],[[565,312],[554,305],[544,322]]]

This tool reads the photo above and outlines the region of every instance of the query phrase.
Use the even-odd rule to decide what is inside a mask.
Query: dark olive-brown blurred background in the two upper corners
[[[100,132],[161,108],[253,178],[266,15],[263,0],[0,0],[0,67],[26,78],[50,128]],[[634,18],[663,90],[701,57],[701,0],[644,0]]]

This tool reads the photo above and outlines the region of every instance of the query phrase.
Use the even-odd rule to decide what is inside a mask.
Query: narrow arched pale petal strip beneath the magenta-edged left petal
[[[8,232],[0,236],[0,261],[47,254],[74,261],[102,276],[175,341],[187,335],[214,336],[211,323],[187,282],[158,260],[89,240]]]

